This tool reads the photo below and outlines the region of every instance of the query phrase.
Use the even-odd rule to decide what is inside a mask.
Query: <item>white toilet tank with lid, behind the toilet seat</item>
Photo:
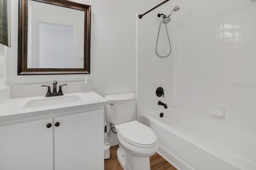
[[[109,123],[121,124],[136,119],[135,94],[112,94],[105,98],[113,105],[106,105],[106,119]]]

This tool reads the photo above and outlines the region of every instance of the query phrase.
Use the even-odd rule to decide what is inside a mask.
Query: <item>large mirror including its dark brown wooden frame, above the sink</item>
[[[18,75],[90,74],[90,6],[19,0]]]

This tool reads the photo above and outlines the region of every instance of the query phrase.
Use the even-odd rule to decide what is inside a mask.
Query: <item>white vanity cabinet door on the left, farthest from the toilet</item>
[[[52,170],[52,118],[0,126],[0,170]]]

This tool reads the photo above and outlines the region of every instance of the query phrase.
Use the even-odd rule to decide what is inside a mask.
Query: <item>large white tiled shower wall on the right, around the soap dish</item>
[[[175,3],[174,108],[256,135],[256,2]]]

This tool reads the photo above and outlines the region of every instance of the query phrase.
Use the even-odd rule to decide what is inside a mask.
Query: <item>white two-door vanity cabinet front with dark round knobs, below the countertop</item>
[[[103,109],[0,126],[0,170],[103,170],[103,130]]]

